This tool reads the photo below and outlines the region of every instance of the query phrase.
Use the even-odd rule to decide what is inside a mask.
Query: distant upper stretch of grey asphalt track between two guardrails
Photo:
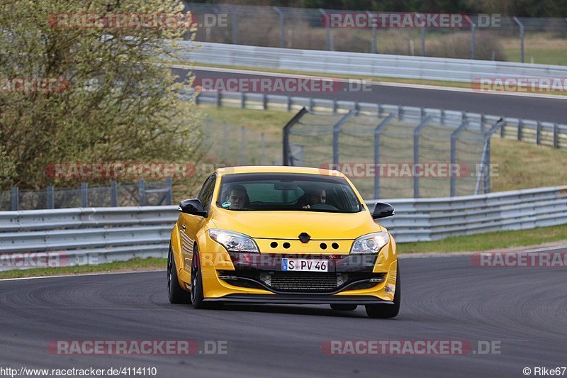
[[[188,70],[174,69],[179,77],[185,77]],[[264,77],[257,74],[215,72],[195,70],[201,78],[246,78]],[[277,77],[277,74],[274,74]],[[342,101],[362,101],[369,103],[423,106],[434,109],[470,111],[494,116],[533,119],[567,123],[566,99],[552,99],[536,96],[510,96],[503,94],[485,94],[471,91],[445,91],[411,87],[390,87],[372,85],[371,91],[340,91],[315,94],[281,93],[293,96],[313,97],[318,99],[340,99]]]

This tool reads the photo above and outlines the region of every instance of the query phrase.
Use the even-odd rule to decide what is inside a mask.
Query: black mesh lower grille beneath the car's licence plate
[[[347,274],[324,272],[263,272],[260,280],[279,291],[333,291],[347,282]]]

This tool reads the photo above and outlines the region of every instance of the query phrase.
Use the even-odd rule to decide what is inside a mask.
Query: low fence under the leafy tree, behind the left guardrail
[[[160,206],[172,204],[172,180],[147,182],[140,179],[135,184],[111,182],[106,187],[78,189],[20,190],[0,192],[0,211],[67,209],[74,207],[107,206]]]

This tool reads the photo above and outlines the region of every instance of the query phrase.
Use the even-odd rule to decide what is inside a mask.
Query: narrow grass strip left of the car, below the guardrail
[[[147,270],[164,270],[167,259],[150,257],[120,262],[107,262],[101,265],[79,265],[77,267],[50,267],[23,270],[8,270],[0,272],[0,279],[40,277],[40,276],[71,276],[74,274],[108,273],[108,272],[137,272]]]

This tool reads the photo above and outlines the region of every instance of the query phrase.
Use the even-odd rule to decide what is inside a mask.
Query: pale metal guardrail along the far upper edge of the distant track
[[[181,46],[196,43],[182,41]],[[567,66],[514,62],[376,55],[364,52],[264,48],[223,43],[198,43],[181,56],[193,63],[295,70],[325,74],[399,77],[453,82],[472,82],[486,77],[567,77]]]

